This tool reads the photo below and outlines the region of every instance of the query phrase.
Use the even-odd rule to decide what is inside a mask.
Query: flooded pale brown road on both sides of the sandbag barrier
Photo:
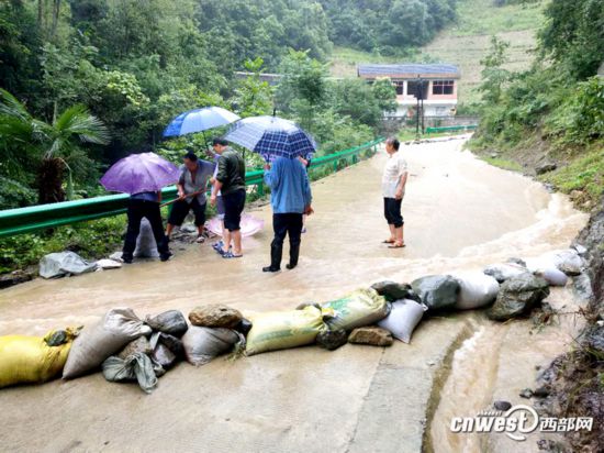
[[[380,279],[411,281],[432,273],[481,269],[510,256],[537,256],[569,245],[585,214],[539,184],[476,159],[461,151],[462,144],[402,147],[411,172],[403,250],[381,244],[388,236],[380,195],[382,151],[313,184],[316,213],[307,222],[295,270],[261,273],[272,239],[270,207],[265,206],[251,213],[265,219],[267,229],[244,242],[243,259],[224,261],[209,244],[176,244],[169,263],[36,279],[0,291],[0,334],[43,334],[86,324],[116,306],[132,307],[141,317],[166,309],[188,313],[210,302],[244,313],[292,309]],[[561,289],[551,297],[569,296]],[[544,366],[563,351],[574,329],[547,327],[533,334],[538,353],[527,351],[521,366],[526,371],[515,379],[502,373],[515,363],[512,345],[522,345],[529,322],[502,325],[480,313],[458,313],[424,322],[411,345],[346,345],[335,352],[305,347],[236,362],[219,358],[200,368],[181,364],[150,396],[135,386],[105,383],[100,374],[3,389],[0,444],[11,451],[418,451],[427,422],[436,451],[479,451],[480,442],[459,444],[438,431],[450,416],[447,401],[456,408],[455,395],[466,396],[472,402],[462,409],[472,411],[489,404],[495,391],[512,399],[517,386],[533,384],[535,365]],[[467,339],[473,339],[470,345],[462,342]],[[439,375],[439,364],[460,346],[451,373]],[[481,349],[480,354],[489,350],[489,360],[463,354],[469,347]],[[477,360],[465,361],[468,356]],[[456,384],[465,375],[471,377]],[[433,384],[441,388],[444,400],[430,396]],[[468,398],[477,387],[479,395]]]

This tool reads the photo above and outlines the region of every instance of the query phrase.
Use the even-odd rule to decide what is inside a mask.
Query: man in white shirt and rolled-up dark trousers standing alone
[[[390,228],[390,237],[384,241],[390,244],[389,248],[401,248],[405,246],[403,240],[403,217],[401,216],[401,205],[405,195],[405,184],[407,178],[406,162],[399,152],[401,143],[390,137],[385,141],[385,152],[388,153],[388,163],[385,164],[382,176],[382,194],[384,217]]]

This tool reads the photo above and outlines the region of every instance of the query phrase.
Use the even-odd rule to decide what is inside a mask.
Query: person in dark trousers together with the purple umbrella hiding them
[[[155,153],[142,153],[118,161],[101,178],[101,184],[107,190],[131,195],[126,213],[128,224],[122,250],[124,263],[133,261],[143,218],[149,221],[160,259],[166,262],[172,256],[168,239],[164,234],[159,203],[161,188],[176,183],[178,176],[176,165]]]

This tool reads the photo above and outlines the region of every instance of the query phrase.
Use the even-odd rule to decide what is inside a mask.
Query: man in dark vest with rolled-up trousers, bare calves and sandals
[[[220,158],[211,202],[215,206],[217,192],[221,192],[224,203],[223,246],[216,252],[223,258],[241,258],[243,256],[241,221],[246,198],[245,162],[237,152],[228,147],[228,142],[224,139],[214,139],[212,146]],[[233,250],[231,250],[231,241],[233,241]]]

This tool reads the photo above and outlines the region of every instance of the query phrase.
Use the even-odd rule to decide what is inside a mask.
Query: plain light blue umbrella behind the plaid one
[[[193,132],[203,132],[209,129],[231,124],[239,117],[222,107],[204,107],[180,113],[164,130],[164,136],[180,136]]]

